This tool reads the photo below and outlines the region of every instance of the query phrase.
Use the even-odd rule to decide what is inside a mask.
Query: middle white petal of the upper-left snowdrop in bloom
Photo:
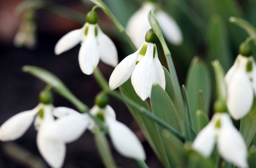
[[[89,25],[88,34],[79,50],[79,65],[85,74],[92,74],[99,63],[99,50],[94,27],[95,25]]]

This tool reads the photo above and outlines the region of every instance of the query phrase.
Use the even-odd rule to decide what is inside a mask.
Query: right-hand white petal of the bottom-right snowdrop
[[[217,139],[220,155],[228,162],[239,167],[248,167],[247,148],[243,137],[232,125],[228,116],[221,118],[221,129]]]

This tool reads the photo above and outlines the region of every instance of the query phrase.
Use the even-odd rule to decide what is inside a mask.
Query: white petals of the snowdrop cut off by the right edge
[[[256,91],[256,64],[252,56],[238,55],[234,65],[228,70],[227,109],[232,118],[243,118],[253,105]]]

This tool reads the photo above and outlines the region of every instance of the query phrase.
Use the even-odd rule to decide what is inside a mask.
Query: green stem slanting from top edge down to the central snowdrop
[[[134,50],[134,52],[137,50],[136,46],[134,45],[134,43],[132,42],[132,40],[130,39],[130,37],[126,34],[125,32],[125,27],[122,26],[122,24],[117,20],[117,18],[113,15],[113,13],[109,10],[109,8],[106,6],[106,4],[104,4],[102,1],[100,0],[90,0],[93,3],[97,4],[99,6],[99,8],[102,9],[102,11],[104,13],[106,13],[106,15],[113,21],[113,23],[116,25],[117,29],[119,29],[119,31],[122,33],[122,35],[125,36],[125,39],[127,40],[127,42],[130,44],[132,50]]]

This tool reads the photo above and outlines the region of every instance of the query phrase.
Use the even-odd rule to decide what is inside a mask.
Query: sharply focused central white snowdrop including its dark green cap
[[[163,67],[158,59],[156,34],[150,29],[145,42],[133,54],[127,56],[114,69],[109,78],[111,90],[119,87],[131,76],[131,83],[141,100],[150,96],[154,82],[165,88],[166,82]]]

